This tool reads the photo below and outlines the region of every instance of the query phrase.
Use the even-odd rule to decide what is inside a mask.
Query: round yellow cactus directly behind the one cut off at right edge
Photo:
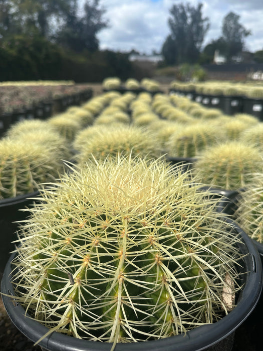
[[[251,174],[263,170],[258,149],[240,141],[213,145],[198,156],[193,175],[200,182],[225,190],[246,187]]]

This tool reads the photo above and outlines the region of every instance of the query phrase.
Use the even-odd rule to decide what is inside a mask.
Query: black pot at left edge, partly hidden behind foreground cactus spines
[[[39,192],[34,192],[0,200],[0,275],[4,272],[10,252],[15,249],[15,244],[12,242],[17,239],[18,223],[16,221],[22,221],[28,216],[27,212],[21,210],[30,207],[34,202],[31,198],[36,198],[38,195]]]

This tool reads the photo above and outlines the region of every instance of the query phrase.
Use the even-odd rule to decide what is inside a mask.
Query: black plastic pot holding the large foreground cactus
[[[117,343],[116,351],[230,351],[234,331],[249,316],[257,304],[262,288],[262,267],[257,250],[251,239],[231,220],[231,230],[240,238],[238,249],[243,254],[240,279],[243,289],[236,296],[236,306],[215,323],[198,326],[185,334],[175,335],[159,340]],[[229,227],[230,230],[230,227]],[[16,327],[32,341],[37,342],[49,329],[31,318],[25,309],[16,301],[12,277],[12,254],[2,279],[3,302],[7,313]],[[13,295],[9,297],[6,295]],[[49,351],[109,351],[112,343],[88,341],[59,332],[53,332],[39,342],[44,350]]]

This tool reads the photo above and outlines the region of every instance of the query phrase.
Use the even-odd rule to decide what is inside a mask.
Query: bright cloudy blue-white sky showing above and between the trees
[[[263,50],[263,0],[100,0],[106,10],[104,18],[109,20],[109,27],[98,34],[100,48],[122,52],[134,49],[144,54],[160,52],[170,34],[169,9],[187,2],[195,8],[202,3],[203,17],[209,19],[203,46],[221,36],[223,18],[232,11],[240,16],[239,23],[251,31],[245,39],[245,49]]]

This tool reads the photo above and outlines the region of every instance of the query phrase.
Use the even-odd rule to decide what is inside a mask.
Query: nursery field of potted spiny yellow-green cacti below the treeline
[[[30,301],[33,319],[40,315],[48,327],[51,317],[60,320],[54,329],[106,342],[220,329],[220,319],[246,308],[248,292],[259,298],[263,87],[118,78],[49,84],[30,93],[12,87],[11,96],[0,85],[0,224],[7,227],[0,279],[18,238],[15,279],[8,285],[5,274],[2,291],[23,307]],[[23,197],[32,200],[29,218],[22,202],[13,213],[8,207]],[[0,350],[41,351],[3,300]],[[261,351],[262,302],[261,295],[235,324],[231,351]]]

